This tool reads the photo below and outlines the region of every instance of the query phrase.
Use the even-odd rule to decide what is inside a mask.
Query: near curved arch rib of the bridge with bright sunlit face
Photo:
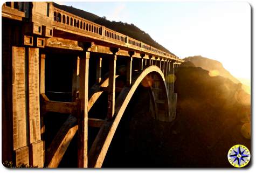
[[[141,73],[133,77],[131,87],[123,87],[121,93],[116,99],[115,106],[115,117],[113,121],[105,121],[101,126],[98,135],[96,136],[91,149],[88,153],[88,166],[89,167],[101,167],[105,156],[107,154],[110,142],[113,139],[117,126],[122,118],[124,110],[128,106],[129,101],[132,99],[133,94],[135,93],[137,87],[141,84],[142,80],[147,77],[150,73],[154,73],[160,77],[162,85],[164,86],[164,95],[165,95],[165,105],[167,116],[169,116],[169,98],[167,86],[165,84],[164,74],[161,69],[157,66],[149,66]],[[168,118],[168,117],[166,117]],[[161,117],[163,120],[164,118]]]

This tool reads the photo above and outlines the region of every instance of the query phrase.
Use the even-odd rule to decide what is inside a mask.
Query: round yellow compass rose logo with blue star
[[[243,145],[236,145],[231,147],[227,153],[227,159],[230,164],[236,168],[241,168],[247,165],[250,162],[251,154],[248,148]]]

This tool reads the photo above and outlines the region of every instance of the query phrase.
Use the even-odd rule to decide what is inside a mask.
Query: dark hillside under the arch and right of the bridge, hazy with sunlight
[[[251,150],[250,95],[191,62],[176,73],[176,120],[156,121],[149,89],[140,87],[115,133],[103,167],[232,167],[227,151]]]

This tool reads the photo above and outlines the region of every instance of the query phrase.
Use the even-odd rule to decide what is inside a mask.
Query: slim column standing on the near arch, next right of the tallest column
[[[109,80],[108,80],[108,120],[111,120],[115,113],[115,71],[116,54],[109,58]]]

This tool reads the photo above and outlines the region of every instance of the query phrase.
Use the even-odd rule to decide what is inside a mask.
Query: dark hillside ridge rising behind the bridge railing
[[[142,31],[141,29],[139,29],[139,27],[135,26],[134,24],[115,22],[115,21],[111,22],[111,21],[107,20],[106,17],[99,17],[97,15],[94,15],[93,13],[90,13],[90,12],[87,12],[84,10],[80,10],[77,8],[73,8],[72,6],[59,5],[57,3],[53,3],[53,6],[56,6],[57,8],[59,8],[61,10],[68,11],[74,15],[85,18],[87,20],[91,20],[92,22],[97,23],[99,25],[106,26],[109,29],[120,32],[122,34],[125,34],[129,37],[136,39],[136,40],[142,41],[143,43],[154,46],[157,49],[160,49],[162,51],[173,54],[169,50],[165,49],[165,47],[158,44],[154,39],[152,39],[148,33]]]

